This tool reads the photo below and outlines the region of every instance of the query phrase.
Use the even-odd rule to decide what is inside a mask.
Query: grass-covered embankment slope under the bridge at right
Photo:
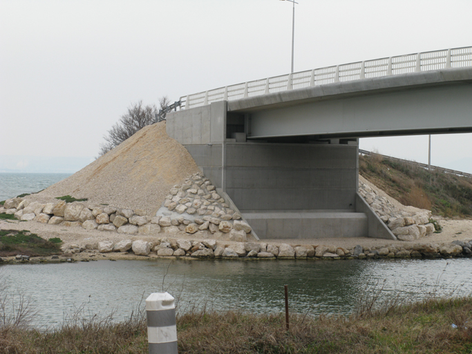
[[[359,156],[359,173],[404,205],[430,209],[435,215],[472,217],[472,178],[428,171],[377,154]]]

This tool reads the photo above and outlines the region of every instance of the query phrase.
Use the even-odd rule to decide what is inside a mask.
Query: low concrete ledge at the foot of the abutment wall
[[[366,237],[364,213],[345,210],[247,211],[244,218],[260,239]]]

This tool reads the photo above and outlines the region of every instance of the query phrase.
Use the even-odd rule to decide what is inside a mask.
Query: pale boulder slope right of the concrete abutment
[[[430,223],[429,210],[418,209],[418,212],[401,210],[390,203],[385,196],[380,196],[375,189],[360,181],[359,194],[401,241],[414,241],[435,231],[433,223]]]

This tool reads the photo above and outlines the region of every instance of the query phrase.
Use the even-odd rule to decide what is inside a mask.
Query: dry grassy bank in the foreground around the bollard
[[[191,312],[178,316],[179,353],[471,353],[472,299],[364,306],[346,317]],[[471,322],[472,323],[472,322]],[[455,324],[457,328],[451,326]],[[147,353],[144,317],[75,318],[57,330],[1,329],[1,353]]]

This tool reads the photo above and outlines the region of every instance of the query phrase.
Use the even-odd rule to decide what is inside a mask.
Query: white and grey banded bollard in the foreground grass
[[[146,299],[149,354],[177,354],[176,304],[169,292]]]

